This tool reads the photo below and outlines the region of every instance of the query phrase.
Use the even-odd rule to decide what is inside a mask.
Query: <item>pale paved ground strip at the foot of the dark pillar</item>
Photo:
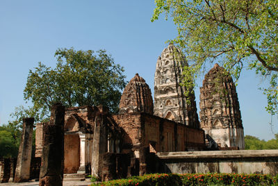
[[[63,181],[64,186],[88,186],[91,185],[92,183],[90,180],[85,180],[85,181]],[[29,185],[29,186],[38,186],[39,182],[38,181],[30,181],[30,182],[24,182],[24,183],[0,183],[0,186],[11,186],[11,185]]]

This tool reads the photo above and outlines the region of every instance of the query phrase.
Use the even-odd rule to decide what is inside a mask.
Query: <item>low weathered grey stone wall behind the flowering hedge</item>
[[[278,174],[278,150],[161,152],[156,158],[163,173]]]

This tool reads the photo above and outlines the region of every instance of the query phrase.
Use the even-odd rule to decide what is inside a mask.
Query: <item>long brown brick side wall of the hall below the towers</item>
[[[144,146],[151,145],[156,152],[204,149],[204,130],[144,113],[141,117],[145,122]]]

